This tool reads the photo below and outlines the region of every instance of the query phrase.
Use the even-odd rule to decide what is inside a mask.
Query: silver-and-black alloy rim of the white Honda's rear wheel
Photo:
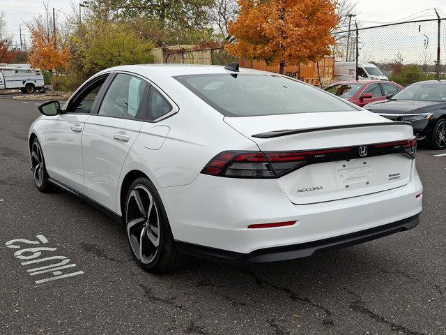
[[[132,251],[141,263],[151,263],[160,246],[160,216],[153,195],[145,186],[134,186],[125,209]]]

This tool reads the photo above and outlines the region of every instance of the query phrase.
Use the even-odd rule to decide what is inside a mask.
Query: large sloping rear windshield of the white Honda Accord
[[[175,79],[226,117],[356,110],[339,98],[282,75],[221,73]]]

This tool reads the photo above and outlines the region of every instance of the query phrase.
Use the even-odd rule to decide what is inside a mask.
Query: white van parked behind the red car
[[[335,61],[334,62],[334,79],[338,82],[344,80],[356,80],[355,73],[356,63],[354,61]],[[358,63],[357,64],[358,80],[389,80],[375,64]]]

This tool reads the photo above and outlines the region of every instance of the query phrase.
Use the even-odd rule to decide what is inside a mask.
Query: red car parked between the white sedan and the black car
[[[335,96],[363,107],[367,103],[388,99],[403,88],[396,82],[387,82],[385,80],[350,80],[347,82],[335,82],[324,89]]]

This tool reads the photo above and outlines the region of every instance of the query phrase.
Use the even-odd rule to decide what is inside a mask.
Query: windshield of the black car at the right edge
[[[392,96],[392,100],[415,100],[415,101],[441,101],[446,102],[446,84],[426,83],[411,84],[398,94]]]

